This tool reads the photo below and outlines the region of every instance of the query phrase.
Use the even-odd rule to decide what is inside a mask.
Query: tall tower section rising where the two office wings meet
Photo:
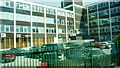
[[[81,16],[82,16],[82,9],[83,7],[83,0],[63,0],[62,8],[66,10],[71,10],[74,12],[75,15],[75,27],[76,27],[76,34],[79,34],[80,31],[80,23],[81,23]]]

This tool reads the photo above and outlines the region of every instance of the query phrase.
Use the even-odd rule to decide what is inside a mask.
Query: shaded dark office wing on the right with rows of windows
[[[97,41],[112,40],[120,33],[120,1],[97,2],[86,6],[83,32]]]

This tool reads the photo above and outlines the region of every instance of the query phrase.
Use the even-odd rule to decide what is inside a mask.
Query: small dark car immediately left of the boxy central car
[[[38,58],[41,57],[40,52],[41,52],[41,47],[40,46],[31,47],[31,48],[29,48],[29,52],[26,55],[26,57],[38,59]]]

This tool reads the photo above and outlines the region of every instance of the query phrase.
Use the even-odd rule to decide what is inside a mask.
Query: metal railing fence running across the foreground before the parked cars
[[[114,68],[118,54],[106,54],[94,47],[61,44],[32,47],[29,50],[12,48],[2,51],[2,68]]]

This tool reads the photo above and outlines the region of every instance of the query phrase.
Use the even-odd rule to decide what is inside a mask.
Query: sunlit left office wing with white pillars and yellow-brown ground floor
[[[67,42],[73,11],[17,0],[0,0],[0,46],[22,48]]]

